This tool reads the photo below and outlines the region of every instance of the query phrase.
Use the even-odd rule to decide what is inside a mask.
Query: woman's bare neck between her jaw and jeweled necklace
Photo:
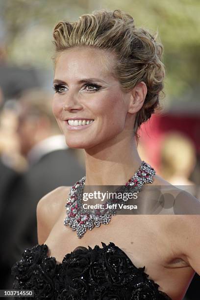
[[[124,185],[141,166],[133,138],[85,150],[85,185]]]

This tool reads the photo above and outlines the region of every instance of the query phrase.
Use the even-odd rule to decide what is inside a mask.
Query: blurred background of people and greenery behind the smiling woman
[[[10,267],[37,244],[36,205],[85,174],[51,111],[53,26],[95,9],[122,9],[158,30],[166,66],[162,110],[140,129],[141,158],[200,198],[199,0],[0,0],[0,289]],[[66,195],[66,199],[67,199]],[[199,299],[195,275],[185,300]]]

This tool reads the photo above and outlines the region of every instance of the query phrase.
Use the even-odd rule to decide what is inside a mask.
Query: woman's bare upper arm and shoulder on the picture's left
[[[37,204],[37,235],[38,244],[44,244],[50,231],[57,221],[63,200],[67,200],[69,188],[61,186],[41,198]]]

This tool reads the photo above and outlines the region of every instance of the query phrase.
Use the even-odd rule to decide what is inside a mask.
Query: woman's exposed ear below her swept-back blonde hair
[[[130,114],[138,112],[144,104],[147,95],[147,85],[145,82],[138,82],[131,91],[128,112]]]

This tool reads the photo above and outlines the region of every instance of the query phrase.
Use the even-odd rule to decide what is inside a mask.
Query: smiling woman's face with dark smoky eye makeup
[[[70,148],[100,147],[123,133],[130,95],[112,75],[116,63],[114,54],[86,47],[58,56],[52,110]]]

